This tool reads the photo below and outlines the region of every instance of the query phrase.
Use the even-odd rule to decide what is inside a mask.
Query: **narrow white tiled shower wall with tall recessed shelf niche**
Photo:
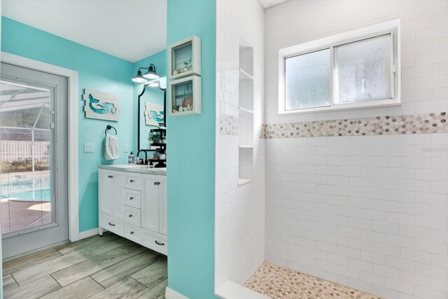
[[[254,122],[264,123],[264,21],[258,0],[216,3],[215,286],[243,284],[265,260],[265,140],[254,134],[254,181],[238,186],[239,38],[253,46]],[[251,12],[247,14],[247,12]]]

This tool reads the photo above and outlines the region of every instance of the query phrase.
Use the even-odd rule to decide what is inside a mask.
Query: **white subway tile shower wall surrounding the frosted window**
[[[448,297],[446,123],[434,120],[437,133],[372,132],[377,117],[447,112],[447,4],[286,1],[265,11],[268,261],[386,298]],[[278,69],[280,48],[397,18],[401,106],[277,114],[278,74],[267,70]],[[336,137],[344,119],[370,123],[369,134],[344,136],[354,135],[344,129]],[[335,127],[281,136],[297,123],[326,120]]]

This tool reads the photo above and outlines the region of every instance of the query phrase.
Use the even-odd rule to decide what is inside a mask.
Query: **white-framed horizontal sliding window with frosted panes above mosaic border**
[[[279,113],[400,104],[399,20],[279,51]]]

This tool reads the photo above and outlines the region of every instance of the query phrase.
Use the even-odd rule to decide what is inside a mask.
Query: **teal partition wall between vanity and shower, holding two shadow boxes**
[[[167,117],[168,286],[208,299],[214,298],[216,0],[168,0],[167,8],[168,45],[202,39],[202,114]]]

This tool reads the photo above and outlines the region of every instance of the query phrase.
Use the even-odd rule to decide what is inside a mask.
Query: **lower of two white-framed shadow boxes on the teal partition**
[[[169,82],[169,114],[188,116],[202,113],[200,76],[189,76]]]

